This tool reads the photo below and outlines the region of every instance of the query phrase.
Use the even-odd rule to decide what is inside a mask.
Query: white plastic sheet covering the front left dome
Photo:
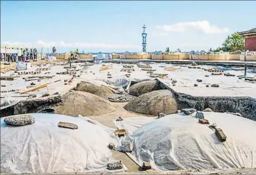
[[[115,161],[107,145],[116,140],[108,128],[71,116],[31,115],[35,123],[19,127],[1,118],[1,173],[116,172],[107,169]],[[59,128],[59,121],[78,129]]]

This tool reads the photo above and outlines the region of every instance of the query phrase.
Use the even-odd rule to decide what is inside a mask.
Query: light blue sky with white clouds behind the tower
[[[256,27],[256,1],[1,1],[1,45],[57,52],[209,50]]]

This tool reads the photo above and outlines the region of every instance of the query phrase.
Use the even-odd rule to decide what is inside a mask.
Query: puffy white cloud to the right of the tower
[[[166,32],[185,32],[190,29],[203,31],[205,34],[222,34],[229,32],[228,28],[220,29],[217,26],[210,25],[208,21],[179,22],[173,25],[156,26],[157,29],[163,29]]]

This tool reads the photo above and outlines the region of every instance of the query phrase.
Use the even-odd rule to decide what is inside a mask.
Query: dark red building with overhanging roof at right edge
[[[245,50],[256,51],[256,28],[239,34],[245,37]]]

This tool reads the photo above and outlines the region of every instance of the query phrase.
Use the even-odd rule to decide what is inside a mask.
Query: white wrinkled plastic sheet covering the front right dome
[[[227,136],[220,142],[207,125],[183,113],[155,118],[124,118],[115,121],[126,128],[134,151],[128,154],[142,165],[156,170],[221,169],[256,167],[256,122],[227,113],[204,112],[210,124],[216,123]],[[137,129],[136,129],[137,128]]]

